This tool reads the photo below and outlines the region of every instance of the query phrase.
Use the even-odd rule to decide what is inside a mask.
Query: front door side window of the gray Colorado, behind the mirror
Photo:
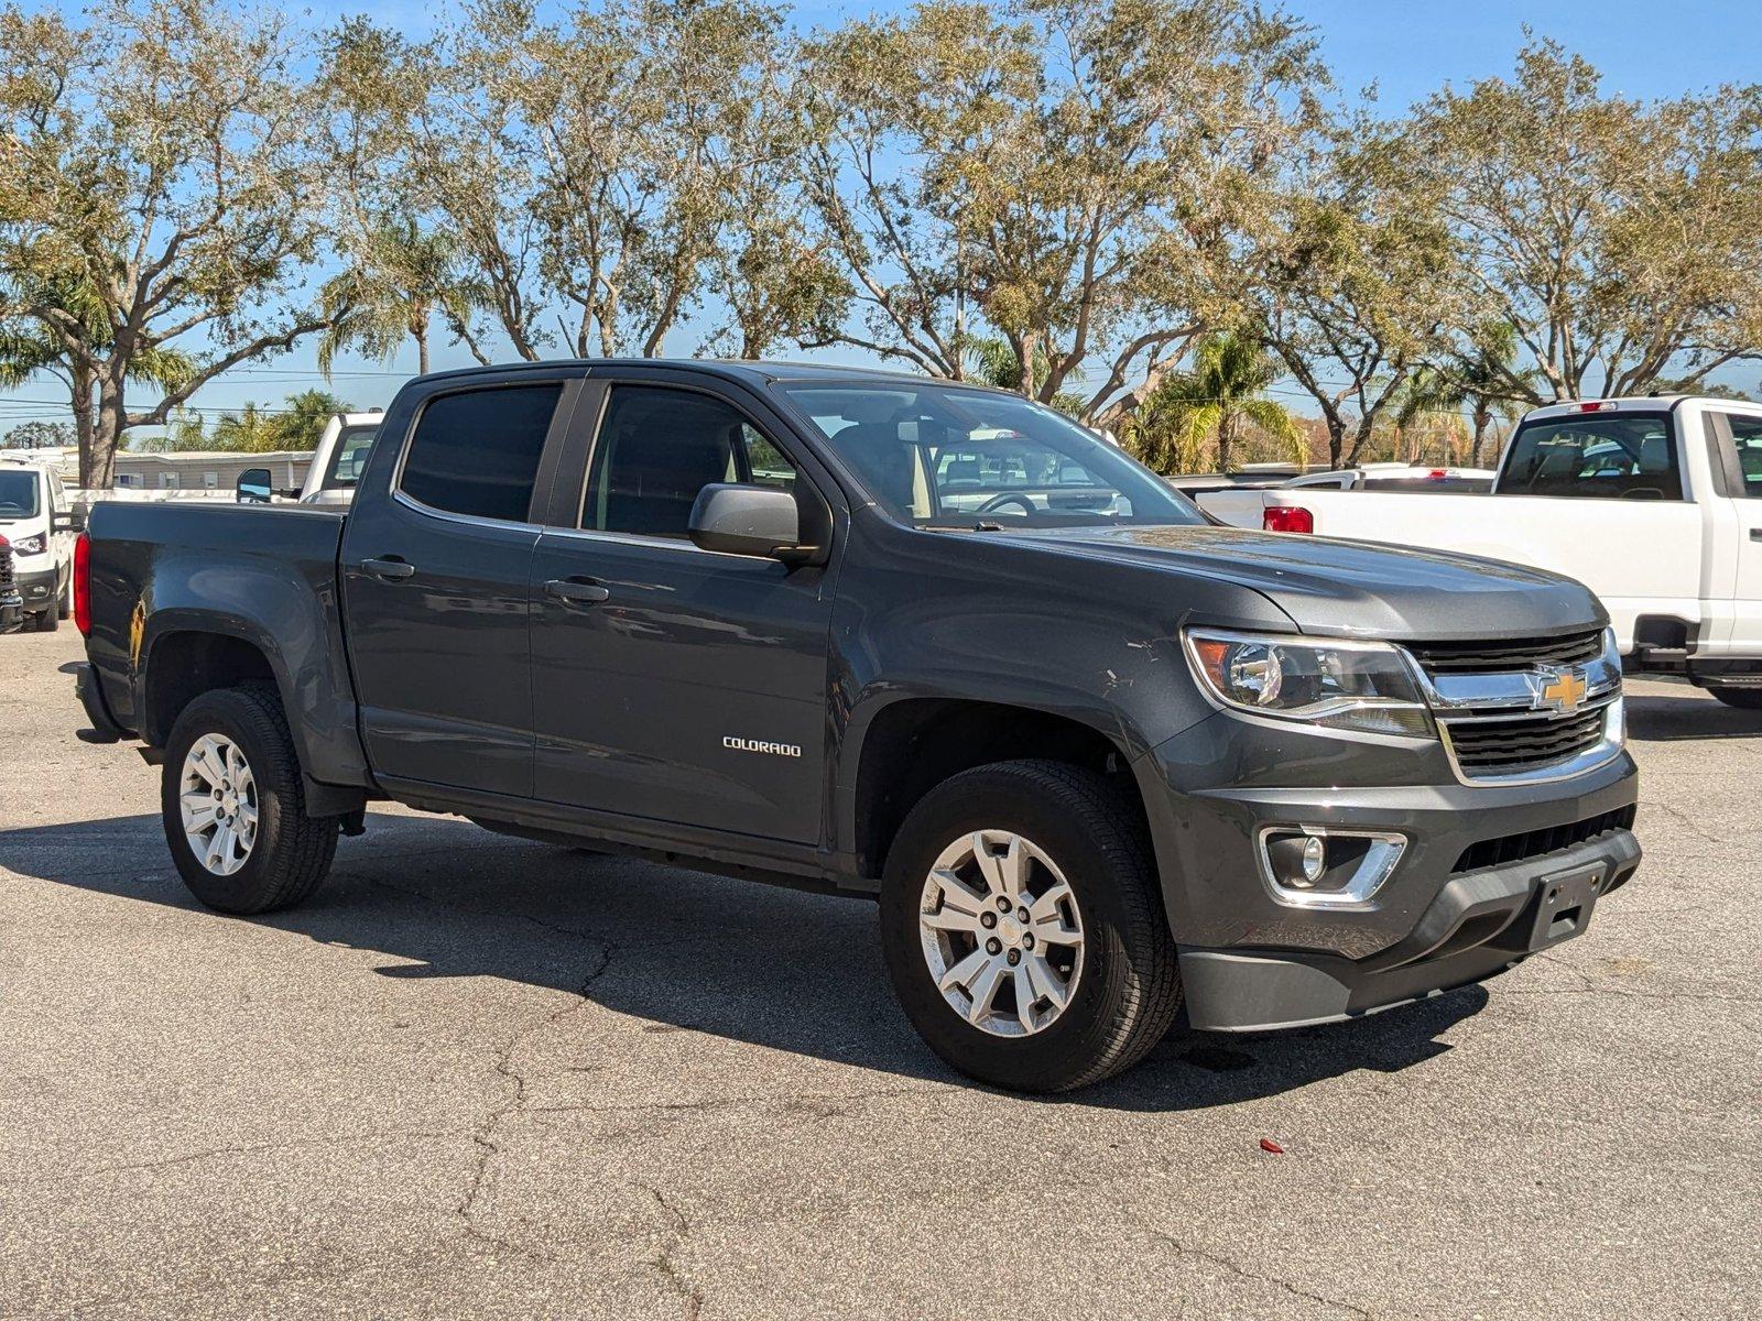
[[[712,483],[795,490],[795,465],[733,405],[684,389],[618,386],[594,444],[581,527],[684,537]]]

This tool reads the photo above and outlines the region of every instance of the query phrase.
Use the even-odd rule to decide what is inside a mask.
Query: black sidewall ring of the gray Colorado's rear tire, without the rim
[[[171,847],[171,858],[190,891],[203,904],[222,912],[257,912],[263,909],[266,889],[271,884],[266,872],[282,840],[291,787],[277,782],[275,749],[268,745],[257,722],[250,719],[252,713],[255,708],[243,694],[208,692],[183,710],[171,727],[171,738],[166,740],[166,763],[160,777],[166,844]],[[231,740],[250,766],[252,782],[257,787],[257,837],[245,865],[233,875],[215,875],[203,867],[183,835],[180,805],[183,759],[204,734],[220,734]]]

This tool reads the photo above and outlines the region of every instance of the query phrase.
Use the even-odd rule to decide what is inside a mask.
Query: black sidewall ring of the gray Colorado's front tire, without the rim
[[[1066,1073],[1105,1048],[1108,1023],[1131,978],[1115,863],[1099,840],[1041,786],[1006,771],[978,771],[911,812],[888,851],[881,889],[883,951],[893,988],[930,1048],[955,1067],[1024,1090],[1055,1090]],[[1008,830],[1033,840],[1064,874],[1084,930],[1084,970],[1059,1018],[1025,1037],[967,1023],[943,999],[923,958],[918,911],[936,858],[962,835]]]

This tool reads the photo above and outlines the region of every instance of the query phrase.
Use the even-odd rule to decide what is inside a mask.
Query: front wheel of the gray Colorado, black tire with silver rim
[[[1036,905],[1024,904],[1017,912],[1027,907],[1036,916],[1025,925],[1010,925],[1008,932],[999,914],[992,914],[983,932],[944,934],[923,926],[929,912],[966,923],[964,909],[978,893],[987,897],[981,907],[996,902],[997,888],[987,881],[990,872],[974,842],[1001,851],[992,852],[992,861],[1003,875],[1010,870],[1011,837],[1024,842],[1024,854],[1031,852],[1027,868],[1018,872],[1031,877],[1024,891],[1040,897]],[[964,854],[971,863],[950,861]],[[943,882],[932,891],[932,870],[939,865],[971,882],[964,898],[957,900]],[[1054,921],[1043,905],[1057,889],[1059,875],[1075,909],[1064,909],[1066,916]],[[980,912],[980,921],[983,918]],[[1075,946],[1061,948],[1059,926],[1080,930],[1080,963]],[[1022,935],[1024,930],[1027,937],[1036,930],[1045,935],[1034,942]],[[955,974],[957,962],[971,963],[980,956],[981,934],[1004,937],[1011,946],[1004,956],[1015,953],[1020,963],[999,969],[1011,979],[1010,990],[999,983],[996,997],[985,997],[992,1011],[976,1025],[973,1013],[981,999],[976,988],[985,974],[969,978],[974,990],[955,983],[944,995],[930,960],[941,962],[944,976]],[[969,941],[974,948],[967,948]],[[925,794],[888,851],[881,946],[900,1007],[930,1050],[971,1078],[1020,1092],[1066,1092],[1129,1069],[1163,1039],[1181,1007],[1175,942],[1144,824],[1107,780],[1064,763],[980,766]],[[1062,1009],[1048,995],[1036,999],[1024,1015],[1017,995],[1024,983],[1013,979],[1033,949],[1054,965],[1054,978],[1064,979],[1061,990],[1068,992],[1068,1002]],[[1057,960],[1066,967],[1057,967]],[[1025,985],[1036,990],[1033,976]],[[955,997],[966,1002],[964,1011],[951,1004]],[[1011,1013],[1018,1018],[1015,1027],[1008,1022]],[[1029,1025],[1041,1016],[1047,1022]]]

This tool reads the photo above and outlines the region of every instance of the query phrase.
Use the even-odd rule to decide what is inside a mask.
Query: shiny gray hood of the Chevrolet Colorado
[[[1302,632],[1480,641],[1549,638],[1609,622],[1589,588],[1544,569],[1223,527],[1022,528],[985,534],[1024,548],[1094,555],[1237,583]]]

